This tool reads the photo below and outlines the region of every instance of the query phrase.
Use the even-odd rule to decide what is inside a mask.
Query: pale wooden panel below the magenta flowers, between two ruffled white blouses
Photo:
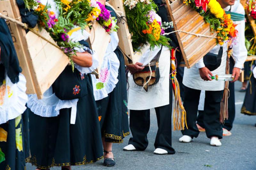
[[[97,54],[99,60],[98,71],[100,71],[100,67],[107,51],[108,44],[111,41],[111,37],[98,22],[94,22],[89,38],[92,45],[92,50],[95,51]]]

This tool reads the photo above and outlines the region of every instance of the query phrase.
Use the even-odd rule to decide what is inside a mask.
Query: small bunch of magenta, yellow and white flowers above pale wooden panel
[[[97,4],[99,5],[101,11],[97,18],[99,24],[106,30],[108,34],[117,32],[117,29],[119,28],[116,24],[117,19],[115,17],[111,17],[110,11],[108,11],[104,5],[102,5],[100,2],[97,2]]]

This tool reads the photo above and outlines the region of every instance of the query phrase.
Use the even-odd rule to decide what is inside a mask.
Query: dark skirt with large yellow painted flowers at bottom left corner
[[[28,119],[23,119],[27,116],[24,114],[0,125],[0,169],[26,169],[29,148],[25,127],[28,126]]]

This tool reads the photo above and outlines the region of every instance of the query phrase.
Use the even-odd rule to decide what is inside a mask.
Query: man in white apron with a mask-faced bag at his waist
[[[158,15],[156,19],[161,20]],[[150,109],[154,108],[158,124],[154,154],[174,154],[175,150],[172,148],[171,114],[172,85],[169,79],[170,49],[165,46],[155,46],[153,50],[150,50],[149,46],[144,48],[146,49],[144,49],[144,52],[141,54],[139,61],[134,65],[127,66],[129,71],[133,74],[133,79],[132,77],[129,78],[128,95],[132,137],[123,150],[144,151],[147,148],[147,134],[150,127]],[[160,78],[157,83],[149,82],[149,84],[143,86],[143,83],[141,84],[140,82],[142,79],[142,82],[147,82],[146,77],[149,75],[144,74],[147,72],[146,69],[148,69],[149,66],[146,65],[149,62],[158,64]],[[149,70],[147,73],[149,73]]]

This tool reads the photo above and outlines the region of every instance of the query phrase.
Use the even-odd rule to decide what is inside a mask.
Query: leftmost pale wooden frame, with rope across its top
[[[0,1],[0,12],[10,18],[20,19],[15,0]],[[27,94],[36,94],[41,99],[44,92],[68,65],[68,57],[62,50],[48,42],[55,43],[44,29],[37,32],[48,41],[31,31],[26,34],[21,26],[13,22],[7,20],[6,23],[12,34],[22,73],[26,77]]]

